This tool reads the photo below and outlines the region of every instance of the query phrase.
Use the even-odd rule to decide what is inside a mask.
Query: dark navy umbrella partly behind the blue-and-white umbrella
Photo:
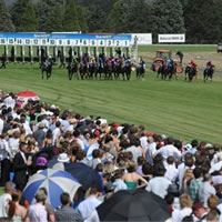
[[[83,190],[90,186],[102,188],[102,180],[98,172],[85,165],[84,163],[64,163],[64,170],[70,172],[82,184]]]

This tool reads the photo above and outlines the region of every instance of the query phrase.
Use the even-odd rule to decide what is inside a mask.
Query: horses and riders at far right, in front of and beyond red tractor
[[[203,70],[203,80],[204,82],[210,80],[213,80],[213,73],[214,73],[214,65],[211,65],[209,68],[205,68]],[[192,68],[191,65],[186,65],[185,70],[184,70],[184,74],[185,74],[185,80],[188,80],[189,82],[192,82],[192,80],[198,80],[198,70],[196,68]],[[171,80],[173,77],[174,79],[178,79],[176,75],[176,65],[173,63],[171,67],[167,65],[167,64],[162,64],[160,65],[160,68],[158,69],[158,78],[161,75],[162,80]]]

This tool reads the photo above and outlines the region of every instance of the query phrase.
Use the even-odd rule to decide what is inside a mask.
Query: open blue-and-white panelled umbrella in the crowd
[[[80,183],[78,183],[70,173],[61,170],[47,169],[30,178],[23,190],[23,196],[29,201],[29,203],[33,203],[37,191],[40,188],[46,188],[48,191],[47,202],[54,209],[61,205],[60,195],[63,192],[68,192],[72,200],[80,186]]]

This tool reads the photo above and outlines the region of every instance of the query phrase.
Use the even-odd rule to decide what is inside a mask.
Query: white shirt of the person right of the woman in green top
[[[153,192],[154,194],[159,195],[160,198],[164,199],[168,194],[168,188],[172,184],[167,178],[157,176],[152,178],[148,186],[145,188],[147,191]]]

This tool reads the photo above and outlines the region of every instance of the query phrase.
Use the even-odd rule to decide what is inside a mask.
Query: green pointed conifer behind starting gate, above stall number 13
[[[20,31],[38,31],[38,19],[32,0],[28,0],[27,9],[21,17]]]

